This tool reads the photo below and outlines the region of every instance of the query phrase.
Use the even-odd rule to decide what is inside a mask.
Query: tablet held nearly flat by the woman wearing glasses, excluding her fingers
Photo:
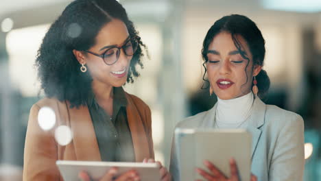
[[[135,169],[141,181],[160,180],[159,167],[155,162],[98,162],[98,161],[71,161],[57,160],[62,178],[64,180],[79,180],[80,171],[87,171],[93,179],[101,178],[111,167],[117,167],[119,175]]]

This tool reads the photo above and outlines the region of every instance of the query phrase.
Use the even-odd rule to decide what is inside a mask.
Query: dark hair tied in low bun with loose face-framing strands
[[[204,38],[202,47],[202,58],[204,60],[203,67],[205,69],[203,75],[204,81],[208,82],[208,80],[205,80],[204,77],[206,74],[205,63],[208,61],[207,53],[209,51],[209,45],[211,44],[213,38],[220,32],[228,32],[231,34],[235,47],[237,47],[237,49],[241,53],[241,56],[244,59],[248,60],[249,64],[250,59],[243,53],[243,51],[241,51],[241,44],[236,37],[237,35],[242,36],[244,40],[246,40],[248,47],[250,47],[253,58],[253,66],[263,66],[265,57],[265,40],[257,25],[248,17],[243,15],[231,14],[229,16],[223,16],[221,19],[215,21]],[[246,64],[246,68],[248,67],[248,64]],[[244,71],[246,71],[246,68],[244,69]],[[257,86],[259,88],[258,95],[259,97],[263,98],[265,97],[266,93],[268,93],[268,89],[270,88],[270,78],[268,77],[266,71],[261,69],[260,73],[256,76],[256,79]]]

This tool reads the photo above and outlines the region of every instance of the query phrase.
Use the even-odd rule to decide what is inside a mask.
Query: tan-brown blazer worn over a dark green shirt
[[[150,108],[141,99],[126,93],[127,117],[134,155],[137,162],[154,158]],[[38,111],[49,107],[56,113],[56,124],[45,131],[38,125]],[[73,139],[68,145],[56,142],[55,130],[59,125],[71,128]],[[95,160],[100,153],[91,115],[87,106],[70,108],[68,101],[41,99],[30,110],[25,138],[23,180],[62,180],[56,160]]]

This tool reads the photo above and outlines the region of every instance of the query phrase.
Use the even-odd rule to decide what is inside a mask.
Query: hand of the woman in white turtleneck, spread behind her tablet
[[[213,163],[205,160],[204,165],[210,170],[211,173],[197,168],[196,171],[208,181],[239,181],[239,171],[237,164],[233,158],[230,159],[230,178],[227,178],[222,171],[217,169]],[[199,180],[198,180],[199,181]],[[250,181],[257,181],[257,177],[251,174]]]

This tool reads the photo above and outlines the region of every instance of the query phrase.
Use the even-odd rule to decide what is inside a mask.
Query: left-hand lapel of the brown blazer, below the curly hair
[[[69,115],[77,160],[101,161],[102,158],[100,157],[97,138],[88,107],[69,108]]]

